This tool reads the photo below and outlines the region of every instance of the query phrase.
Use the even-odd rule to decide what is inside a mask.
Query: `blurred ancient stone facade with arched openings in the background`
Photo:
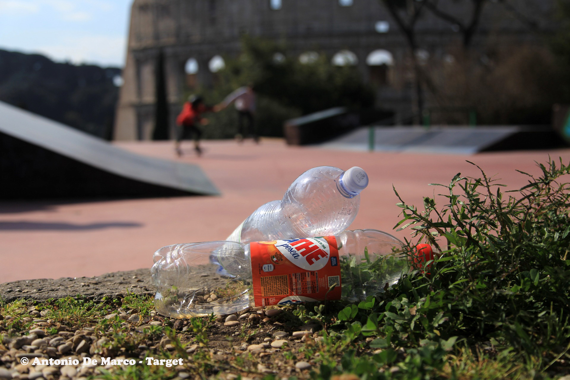
[[[404,11],[406,1],[413,0],[399,2]],[[551,17],[546,16],[555,0],[504,3],[486,2],[473,45],[489,39],[511,46],[538,43],[536,29],[548,28]],[[466,23],[473,14],[471,1],[438,5]],[[420,62],[453,62],[450,47],[461,44],[457,26],[425,12],[414,30]],[[284,41],[286,54],[302,60],[326,54],[336,64],[355,64],[377,88],[378,105],[396,112],[396,122],[413,113],[409,44],[381,0],[134,0],[114,138],[152,138],[158,66],[164,71],[173,137],[186,87],[211,85],[221,56],[239,54],[243,34]]]

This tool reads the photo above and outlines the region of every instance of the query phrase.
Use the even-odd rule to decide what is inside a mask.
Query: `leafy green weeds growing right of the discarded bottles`
[[[318,377],[340,372],[367,378],[548,378],[569,373],[570,185],[563,179],[570,166],[550,159],[538,166],[538,178],[520,172],[529,181],[516,191],[503,192],[503,185],[481,168],[482,178],[457,174],[449,185],[431,184],[445,190],[439,194],[445,202],[425,197],[423,211],[406,204],[394,189],[403,216],[394,228],[412,230],[406,240],[410,251],[426,242],[439,255],[324,323]],[[322,307],[315,313],[298,307],[295,314],[307,321],[327,320]],[[372,357],[360,355],[363,337],[377,349]],[[317,351],[308,350],[307,356]]]

